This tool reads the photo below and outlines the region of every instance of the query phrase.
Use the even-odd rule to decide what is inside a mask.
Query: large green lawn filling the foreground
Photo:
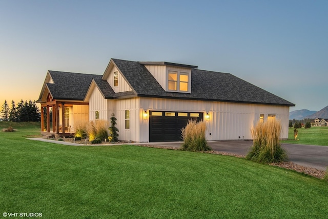
[[[324,218],[328,183],[242,158],[0,132],[0,211],[43,218]]]

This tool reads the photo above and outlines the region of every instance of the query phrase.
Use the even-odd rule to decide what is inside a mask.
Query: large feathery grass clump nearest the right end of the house
[[[257,123],[251,129],[253,145],[246,158],[262,164],[280,163],[288,160],[288,155],[281,147],[279,140],[281,130],[281,123],[277,120]]]

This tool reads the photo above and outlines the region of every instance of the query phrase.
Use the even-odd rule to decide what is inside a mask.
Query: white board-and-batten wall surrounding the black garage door
[[[148,112],[153,110],[203,112],[204,117],[206,113],[209,113],[209,121],[204,118],[208,126],[208,140],[251,139],[251,127],[259,121],[260,114],[264,114],[264,121],[268,120],[268,115],[275,115],[276,119],[281,120],[282,123],[283,130],[281,138],[288,138],[288,106],[140,97],[139,142],[149,141],[149,118],[147,121],[142,118],[144,110]]]

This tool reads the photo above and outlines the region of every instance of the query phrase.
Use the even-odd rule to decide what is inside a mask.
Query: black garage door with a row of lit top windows
[[[149,112],[149,142],[176,142],[182,141],[181,129],[188,120],[200,121],[202,112]]]

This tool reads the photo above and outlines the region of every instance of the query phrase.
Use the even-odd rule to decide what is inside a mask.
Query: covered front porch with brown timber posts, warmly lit
[[[73,136],[74,121],[89,121],[89,103],[53,100],[41,104],[41,134]]]

